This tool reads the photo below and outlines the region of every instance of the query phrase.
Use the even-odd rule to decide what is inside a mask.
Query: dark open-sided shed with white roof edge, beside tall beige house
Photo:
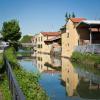
[[[85,20],[77,25],[79,44],[100,44],[100,21]]]

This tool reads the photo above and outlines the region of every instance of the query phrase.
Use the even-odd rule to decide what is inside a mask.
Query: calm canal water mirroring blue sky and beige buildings
[[[27,71],[40,73],[39,83],[50,100],[100,100],[100,69],[44,54],[19,63]]]

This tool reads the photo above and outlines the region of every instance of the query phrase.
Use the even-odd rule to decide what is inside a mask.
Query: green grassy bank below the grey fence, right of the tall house
[[[86,65],[99,66],[100,64],[100,55],[96,54],[74,52],[71,59],[74,62]]]

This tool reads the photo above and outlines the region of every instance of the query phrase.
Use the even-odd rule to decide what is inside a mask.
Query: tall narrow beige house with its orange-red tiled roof
[[[60,30],[61,30],[61,42],[62,42],[62,57],[70,57],[74,50],[74,47],[79,44],[79,35],[77,32],[77,25],[86,20],[85,18],[70,18]]]

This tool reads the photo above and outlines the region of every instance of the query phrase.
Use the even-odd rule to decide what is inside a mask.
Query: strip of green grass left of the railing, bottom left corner
[[[9,91],[7,76],[4,75],[3,79],[0,81],[0,90],[3,95],[3,100],[11,100],[11,94]]]

